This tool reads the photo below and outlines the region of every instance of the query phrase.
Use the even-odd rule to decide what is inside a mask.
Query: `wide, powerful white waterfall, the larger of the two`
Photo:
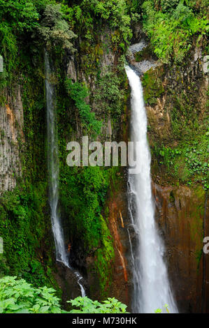
[[[126,66],[131,87],[131,141],[136,143],[138,174],[129,174],[129,213],[136,234],[131,244],[134,283],[132,312],[154,313],[168,304],[171,313],[178,313],[168,272],[164,262],[164,246],[154,222],[154,204],[150,177],[150,149],[147,142],[147,117],[143,101],[143,87],[134,70]]]

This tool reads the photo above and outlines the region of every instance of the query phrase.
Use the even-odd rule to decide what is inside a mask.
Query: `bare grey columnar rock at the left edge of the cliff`
[[[21,176],[20,142],[24,142],[20,87],[0,106],[0,193],[11,191]]]

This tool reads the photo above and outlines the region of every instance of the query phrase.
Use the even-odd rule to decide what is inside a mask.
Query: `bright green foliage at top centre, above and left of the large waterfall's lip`
[[[62,10],[70,26],[84,33],[87,40],[92,41],[96,25],[103,27],[108,23],[110,29],[115,30],[112,35],[113,45],[124,50],[131,38],[130,16],[125,0],[82,0],[73,6],[67,6],[69,1],[62,1]],[[76,27],[77,25],[77,27]]]

